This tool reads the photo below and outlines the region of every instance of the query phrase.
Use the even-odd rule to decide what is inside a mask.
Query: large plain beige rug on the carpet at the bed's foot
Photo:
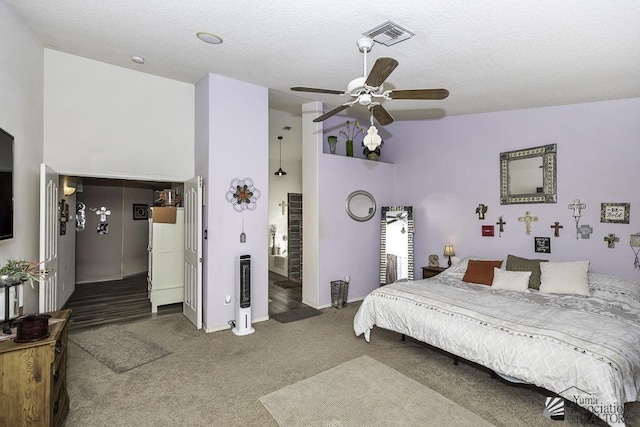
[[[260,402],[280,426],[495,427],[368,356],[262,396]]]

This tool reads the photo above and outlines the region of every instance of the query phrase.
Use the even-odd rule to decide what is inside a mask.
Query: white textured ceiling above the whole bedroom
[[[6,1],[47,48],[188,83],[208,72],[251,82],[283,111],[344,102],[289,87],[346,89],[363,74],[356,40],[387,19],[416,35],[374,45],[369,68],[380,56],[400,63],[385,88],[451,93],[384,101],[398,120],[640,97],[637,0]]]

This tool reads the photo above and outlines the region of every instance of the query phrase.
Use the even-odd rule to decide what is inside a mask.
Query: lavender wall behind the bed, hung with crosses
[[[415,207],[415,263],[428,264],[446,244],[456,255],[502,259],[507,254],[554,261],[587,259],[591,271],[640,278],[633,269],[629,234],[640,231],[640,99],[507,111],[439,120],[394,123],[384,146],[396,164],[395,202]],[[558,203],[500,205],[499,153],[544,144],[558,147]],[[593,227],[589,240],[576,240],[568,205],[587,208],[581,224]],[[600,222],[600,203],[631,203],[630,224]],[[475,209],[487,204],[486,220]],[[530,236],[517,221],[538,216]],[[481,225],[506,221],[502,238],[482,237]],[[553,237],[559,221],[564,229]],[[603,238],[620,237],[614,249]],[[534,252],[533,237],[551,237],[551,254]],[[416,268],[417,270],[417,268]]]

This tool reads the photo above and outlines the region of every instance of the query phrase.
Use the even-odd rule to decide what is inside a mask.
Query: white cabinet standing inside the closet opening
[[[175,224],[149,219],[147,281],[153,313],[158,311],[159,305],[184,299],[184,208],[176,209]]]

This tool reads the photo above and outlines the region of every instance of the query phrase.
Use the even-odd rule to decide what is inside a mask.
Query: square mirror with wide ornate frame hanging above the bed
[[[556,203],[556,144],[500,153],[500,204]]]

